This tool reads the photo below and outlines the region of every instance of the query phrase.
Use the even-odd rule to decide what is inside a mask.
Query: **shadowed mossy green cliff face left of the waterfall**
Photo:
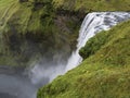
[[[0,0],[0,65],[68,57],[81,23],[76,14],[56,11],[52,0]]]

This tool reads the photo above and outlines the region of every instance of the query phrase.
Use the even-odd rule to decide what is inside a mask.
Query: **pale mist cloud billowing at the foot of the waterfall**
[[[31,83],[38,86],[52,82],[57,75],[65,73],[65,63],[42,62],[28,69]]]

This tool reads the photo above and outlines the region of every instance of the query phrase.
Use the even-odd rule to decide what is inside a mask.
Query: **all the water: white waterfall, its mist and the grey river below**
[[[128,12],[93,12],[89,13],[79,30],[77,49],[68,58],[67,63],[57,64],[43,62],[36,64],[25,72],[17,74],[13,71],[1,72],[0,68],[0,98],[36,98],[37,89],[51,82],[60,74],[76,68],[81,61],[78,51],[86,41],[101,30],[108,30],[119,22],[130,19]]]

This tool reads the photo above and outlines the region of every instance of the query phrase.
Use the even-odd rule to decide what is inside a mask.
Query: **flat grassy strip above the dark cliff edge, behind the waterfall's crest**
[[[55,8],[72,11],[130,11],[130,0],[53,0]]]

